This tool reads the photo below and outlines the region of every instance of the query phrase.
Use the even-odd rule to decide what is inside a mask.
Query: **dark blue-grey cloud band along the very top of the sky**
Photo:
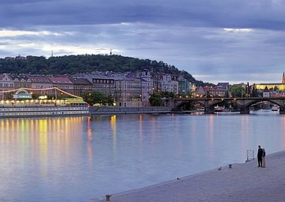
[[[284,28],[283,1],[4,1],[1,25],[181,24],[218,28]],[[10,18],[10,20],[6,20]]]

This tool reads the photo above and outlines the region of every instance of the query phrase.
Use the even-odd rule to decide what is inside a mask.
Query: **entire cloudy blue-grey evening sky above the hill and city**
[[[281,83],[283,0],[1,0],[0,58],[119,54],[217,84]]]

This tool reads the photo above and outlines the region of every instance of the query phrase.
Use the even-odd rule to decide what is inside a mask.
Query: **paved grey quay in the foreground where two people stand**
[[[285,150],[267,155],[266,167],[257,160],[223,166],[142,189],[111,194],[114,202],[146,201],[284,201]],[[105,196],[89,202],[106,201]]]

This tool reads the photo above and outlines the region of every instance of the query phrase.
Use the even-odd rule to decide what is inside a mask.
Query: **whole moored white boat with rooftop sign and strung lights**
[[[41,95],[36,100],[32,100],[32,93],[28,90],[59,90],[59,88],[48,89],[30,89],[20,88],[16,90],[8,90],[0,93],[13,93],[13,100],[0,100],[0,118],[6,117],[54,117],[54,116],[83,116],[89,115],[89,107],[82,97],[66,93],[72,98],[61,100],[47,100],[47,95]]]

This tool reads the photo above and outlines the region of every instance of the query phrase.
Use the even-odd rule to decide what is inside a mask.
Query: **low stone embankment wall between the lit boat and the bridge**
[[[90,114],[141,114],[169,113],[169,107],[90,107]]]

